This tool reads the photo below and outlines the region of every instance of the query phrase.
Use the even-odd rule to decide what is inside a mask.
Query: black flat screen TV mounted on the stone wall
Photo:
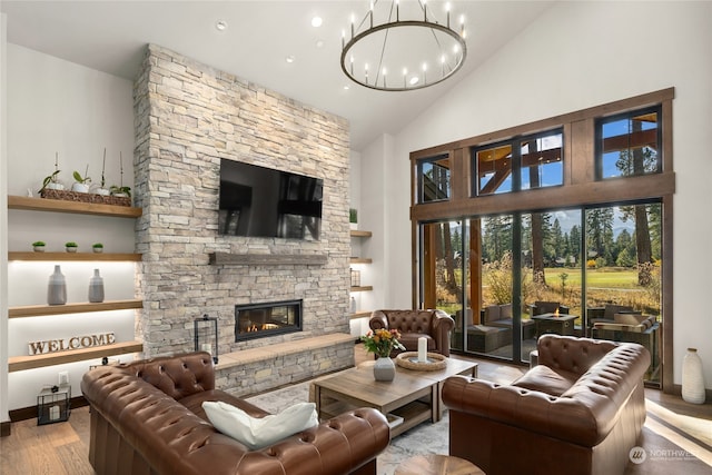
[[[220,159],[218,231],[318,240],[324,180]]]

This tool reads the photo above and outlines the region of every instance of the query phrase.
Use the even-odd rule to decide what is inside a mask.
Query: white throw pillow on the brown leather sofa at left
[[[221,402],[205,402],[202,408],[216,429],[256,451],[293,434],[316,426],[316,404],[298,403],[279,414],[251,417],[245,410]]]

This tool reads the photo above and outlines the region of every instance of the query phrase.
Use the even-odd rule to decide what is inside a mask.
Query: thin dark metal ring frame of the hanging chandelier
[[[421,1],[418,1],[418,3],[421,3]],[[427,18],[427,7],[425,4],[425,1],[423,1],[421,3],[421,8],[423,10],[423,20],[400,20],[399,19],[399,12],[398,12],[398,2],[396,1],[395,3],[395,11],[396,11],[396,20],[395,21],[387,21],[385,23],[380,23],[380,24],[375,24],[374,26],[374,9],[373,9],[373,4],[372,4],[372,9],[370,11],[366,14],[366,18],[364,18],[364,20],[362,21],[362,24],[369,19],[369,28],[367,28],[366,30],[354,34],[354,23],[352,21],[352,38],[349,41],[346,41],[345,39],[345,33],[342,37],[342,71],[344,71],[344,73],[354,82],[358,83],[359,86],[369,88],[369,89],[375,89],[375,90],[380,90],[380,91],[412,91],[412,90],[417,90],[417,89],[424,89],[431,86],[435,86],[439,82],[443,82],[444,80],[446,80],[447,78],[452,77],[455,72],[457,72],[464,65],[465,62],[465,58],[467,57],[467,43],[465,41],[465,28],[464,28],[464,23],[461,26],[461,31],[456,31],[454,29],[452,29],[449,27],[449,11],[447,12],[447,22],[446,24],[441,24],[436,21],[431,21]],[[384,52],[386,51],[387,48],[387,41],[388,41],[388,33],[392,30],[398,29],[398,28],[405,28],[405,27],[409,27],[409,28],[422,28],[422,29],[427,29],[431,30],[432,34],[433,34],[433,41],[437,44],[437,48],[439,48],[441,50],[441,55],[442,55],[442,63],[441,63],[441,68],[439,68],[439,75],[435,75],[435,73],[431,73],[429,78],[426,75],[426,66],[423,66],[423,80],[419,80],[419,76],[418,76],[418,81],[413,83],[409,82],[406,79],[406,72],[404,71],[403,75],[403,82],[399,82],[398,85],[396,85],[396,81],[392,80],[390,81],[390,86],[387,83],[386,81],[386,75],[385,73],[380,73],[380,63],[378,65],[378,68],[375,69],[375,78],[373,80],[369,80],[368,77],[368,69],[367,69],[367,65],[366,65],[366,70],[364,72],[363,78],[359,78],[358,76],[356,76],[356,73],[354,72],[354,57],[352,56],[352,51],[353,49],[356,47],[357,43],[359,43],[360,41],[365,40],[368,37],[372,37],[376,33],[383,32],[385,31],[385,36],[384,36],[384,40],[382,43],[382,53],[380,53],[380,61],[383,61],[383,56]],[[447,34],[449,38],[452,38],[458,48],[458,53],[456,53],[454,56],[455,58],[455,62],[454,63],[446,63],[445,62],[445,55],[443,55],[442,51],[442,46],[439,44],[439,41],[435,34],[435,31],[439,31],[442,33]],[[434,68],[433,71],[436,71],[437,68]],[[428,81],[429,79],[429,81]]]

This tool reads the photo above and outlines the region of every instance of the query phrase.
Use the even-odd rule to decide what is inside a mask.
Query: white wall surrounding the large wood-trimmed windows
[[[408,152],[669,87],[673,101],[674,383],[685,348],[712,387],[712,2],[560,2],[395,138],[388,160],[390,269],[411,268]],[[476,48],[476,46],[471,46]],[[365,179],[368,181],[368,179]],[[376,229],[375,229],[376,230]],[[393,275],[402,305],[411,288]]]

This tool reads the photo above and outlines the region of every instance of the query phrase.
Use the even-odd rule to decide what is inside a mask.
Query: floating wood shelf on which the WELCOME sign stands
[[[102,358],[105,356],[126,355],[144,350],[141,342],[122,342],[112,345],[95,346],[91,348],[70,349],[68,352],[47,353],[42,355],[11,356],[8,358],[8,370],[22,372],[24,369],[43,368],[46,366],[63,365]]]

